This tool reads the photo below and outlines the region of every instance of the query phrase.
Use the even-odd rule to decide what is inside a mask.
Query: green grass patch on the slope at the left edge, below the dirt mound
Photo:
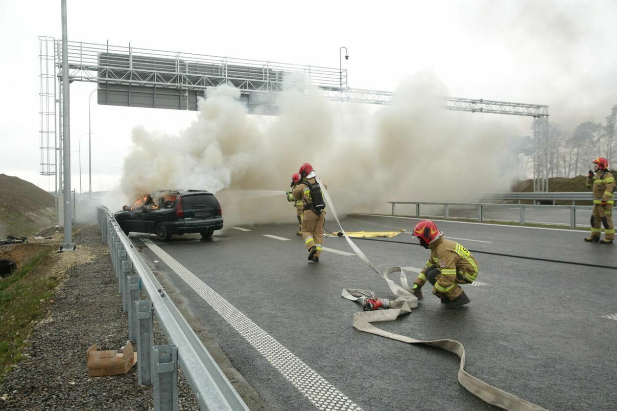
[[[0,383],[10,365],[22,359],[33,321],[43,315],[41,299],[51,297],[59,281],[48,275],[28,276],[48,253],[40,251],[13,275],[0,280]]]

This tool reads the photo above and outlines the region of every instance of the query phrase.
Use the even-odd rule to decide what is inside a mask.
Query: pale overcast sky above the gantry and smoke
[[[38,36],[60,38],[60,0],[0,1],[0,173],[43,189],[39,176]],[[573,128],[617,104],[617,1],[68,0],[68,38],[160,50],[338,67],[349,86],[393,90],[431,70],[450,96],[550,105]],[[73,187],[93,84],[71,86]],[[93,102],[96,97],[93,97]],[[117,184],[133,126],[178,132],[194,112],[92,106],[93,190]],[[528,120],[528,119],[526,119]],[[505,120],[512,134],[529,121]],[[87,139],[81,139],[88,190]]]

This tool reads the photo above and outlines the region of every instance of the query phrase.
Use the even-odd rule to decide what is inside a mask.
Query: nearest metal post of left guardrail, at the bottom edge
[[[178,411],[178,348],[154,346],[154,411]]]

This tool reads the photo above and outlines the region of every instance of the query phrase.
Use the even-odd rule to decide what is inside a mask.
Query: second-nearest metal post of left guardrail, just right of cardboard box
[[[152,328],[152,301],[135,302],[137,306],[137,382],[140,385],[152,385],[152,345],[154,335]]]

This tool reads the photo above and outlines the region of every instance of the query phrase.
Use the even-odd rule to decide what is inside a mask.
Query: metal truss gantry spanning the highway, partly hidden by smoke
[[[60,40],[56,40],[56,67]],[[250,113],[276,114],[276,96],[288,89],[319,87],[337,102],[392,104],[389,91],[347,86],[347,70],[262,60],[68,41],[69,81],[98,84],[99,104],[197,110],[197,97],[222,84],[239,89]],[[436,97],[447,110],[534,118],[534,192],[548,191],[547,105]]]

